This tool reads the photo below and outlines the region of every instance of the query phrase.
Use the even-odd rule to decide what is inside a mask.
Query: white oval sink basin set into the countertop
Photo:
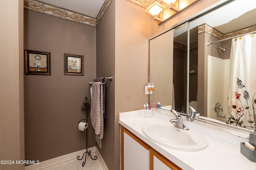
[[[200,132],[179,129],[169,122],[145,123],[142,132],[151,141],[172,149],[199,151],[208,147],[206,137]]]

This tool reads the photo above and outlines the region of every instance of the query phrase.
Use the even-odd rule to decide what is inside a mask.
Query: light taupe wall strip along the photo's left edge
[[[0,6],[0,160],[24,160],[23,1]],[[22,170],[23,164],[0,164]]]

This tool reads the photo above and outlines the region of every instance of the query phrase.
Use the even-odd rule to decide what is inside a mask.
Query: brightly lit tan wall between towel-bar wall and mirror
[[[120,168],[118,113],[143,109],[143,104],[148,102],[145,86],[149,76],[150,21],[151,18],[145,15],[144,8],[127,0],[116,0],[114,170]]]

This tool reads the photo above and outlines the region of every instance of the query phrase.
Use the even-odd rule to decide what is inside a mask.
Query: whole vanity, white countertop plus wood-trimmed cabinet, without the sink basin
[[[142,130],[143,125],[154,122],[170,123],[170,119],[175,119],[171,112],[154,108],[151,118],[144,117],[143,109],[119,113],[122,170],[256,169],[255,162],[240,153],[240,142],[248,142],[249,133],[182,118],[188,128],[198,131],[207,139],[206,148],[197,151],[173,149],[146,137]],[[170,125],[173,126],[172,123]],[[184,130],[177,128],[177,131]],[[173,135],[173,138],[176,136]]]

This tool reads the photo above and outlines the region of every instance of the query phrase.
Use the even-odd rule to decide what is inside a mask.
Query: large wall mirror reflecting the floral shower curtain
[[[150,39],[149,102],[255,130],[255,16],[255,0],[227,0]]]

